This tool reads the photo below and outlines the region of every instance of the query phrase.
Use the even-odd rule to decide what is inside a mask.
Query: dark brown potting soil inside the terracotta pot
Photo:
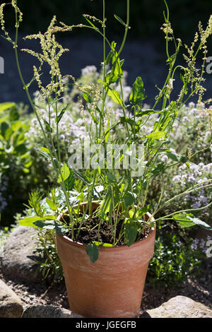
[[[120,232],[123,232],[122,224],[124,222],[124,217],[119,220],[119,223],[117,224],[116,229],[116,239],[119,237]],[[88,218],[86,220],[86,225],[83,225],[81,227],[81,232],[77,237],[77,242],[81,242],[83,244],[89,244],[90,242],[96,241],[96,242],[102,242],[102,243],[108,243],[108,244],[114,244],[114,230],[112,231],[112,226],[108,224],[108,222],[105,220],[105,222],[102,222],[100,224],[100,230],[99,230],[99,237],[98,237],[98,225],[100,223],[100,219],[98,216],[93,216],[93,218]],[[113,222],[113,216],[112,216],[112,223]],[[142,224],[141,224],[142,225]],[[143,223],[144,225],[144,223]],[[79,225],[76,225],[76,228]],[[140,239],[143,239],[144,237],[148,237],[152,232],[151,227],[146,227],[142,232],[138,232],[138,235],[136,237],[136,241],[139,241]],[[75,239],[76,239],[77,230],[75,232]],[[71,232],[66,234],[67,237],[71,239]],[[124,237],[122,236],[121,239],[117,242],[117,246],[124,245]]]

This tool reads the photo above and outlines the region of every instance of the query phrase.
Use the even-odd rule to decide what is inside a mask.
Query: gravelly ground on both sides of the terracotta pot
[[[167,285],[163,287],[151,287],[147,285],[143,292],[141,314],[147,309],[159,307],[160,304],[177,295],[184,295],[212,308],[212,262],[210,260],[204,262],[203,271],[204,275],[199,275],[194,280],[187,278],[184,284],[176,288],[171,288]],[[24,308],[34,304],[52,304],[69,309],[64,283],[57,285],[47,285],[47,283],[26,285],[18,283],[16,280],[4,278],[1,270],[0,279],[4,280],[16,292],[23,301]]]

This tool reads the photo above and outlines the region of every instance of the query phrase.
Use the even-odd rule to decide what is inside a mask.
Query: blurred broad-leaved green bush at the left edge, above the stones
[[[50,184],[47,167],[28,138],[29,131],[30,117],[22,105],[0,104],[1,225],[13,223],[13,215],[23,211],[31,189],[44,192]]]

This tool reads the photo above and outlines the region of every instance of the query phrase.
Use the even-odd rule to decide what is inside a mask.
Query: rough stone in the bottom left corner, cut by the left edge
[[[0,280],[0,318],[20,318],[22,302],[10,287]]]

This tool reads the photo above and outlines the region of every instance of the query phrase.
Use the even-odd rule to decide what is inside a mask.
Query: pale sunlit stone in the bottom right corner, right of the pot
[[[141,318],[212,318],[212,310],[189,297],[176,296],[160,307],[147,310]]]

